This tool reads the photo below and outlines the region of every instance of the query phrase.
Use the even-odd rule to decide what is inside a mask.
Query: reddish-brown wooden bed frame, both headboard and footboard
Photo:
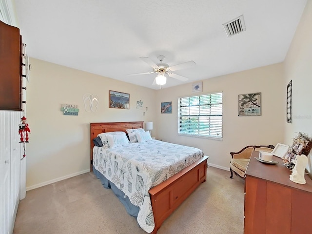
[[[126,129],[143,128],[143,122],[110,122],[90,123],[90,170],[92,171],[93,138],[100,133],[124,131]],[[156,234],[161,224],[176,208],[203,182],[207,176],[207,159],[204,156],[192,165],[184,168],[176,175],[150,189]]]

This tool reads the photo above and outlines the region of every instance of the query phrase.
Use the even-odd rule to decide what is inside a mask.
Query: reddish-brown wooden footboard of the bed
[[[156,234],[163,221],[202,183],[206,181],[207,159],[184,168],[176,175],[150,189]]]

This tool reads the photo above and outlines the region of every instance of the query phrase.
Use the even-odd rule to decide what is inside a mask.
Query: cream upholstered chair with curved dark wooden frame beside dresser
[[[273,145],[249,145],[244,147],[238,152],[231,152],[230,155],[232,156],[230,160],[230,171],[231,176],[230,178],[233,178],[233,172],[235,175],[240,176],[242,178],[245,178],[245,172],[249,163],[250,156],[253,151],[267,151],[272,152],[274,149]]]

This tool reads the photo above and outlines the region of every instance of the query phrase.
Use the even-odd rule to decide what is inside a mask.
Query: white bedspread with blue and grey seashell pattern
[[[155,223],[148,191],[203,156],[194,147],[151,140],[113,149],[94,147],[93,165],[140,208],[137,222],[151,233]]]

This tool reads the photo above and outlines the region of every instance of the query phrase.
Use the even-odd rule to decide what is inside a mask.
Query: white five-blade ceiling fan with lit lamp
[[[148,65],[150,65],[151,67],[153,67],[153,71],[152,72],[144,72],[144,73],[137,73],[137,74],[131,74],[131,76],[134,75],[146,75],[146,74],[153,74],[156,73],[157,76],[153,82],[153,84],[158,84],[158,85],[164,85],[167,81],[167,77],[172,77],[181,81],[186,81],[189,78],[180,76],[176,73],[174,73],[177,70],[181,70],[181,69],[186,69],[186,68],[190,68],[196,65],[196,63],[194,61],[188,61],[188,62],[184,62],[184,63],[180,63],[177,64],[175,66],[169,67],[169,65],[167,63],[163,62],[163,59],[165,59],[165,56],[163,55],[159,55],[157,56],[157,59],[159,60],[158,63],[155,63],[152,59],[148,58],[148,57],[140,57],[140,59],[144,62],[146,62]]]

